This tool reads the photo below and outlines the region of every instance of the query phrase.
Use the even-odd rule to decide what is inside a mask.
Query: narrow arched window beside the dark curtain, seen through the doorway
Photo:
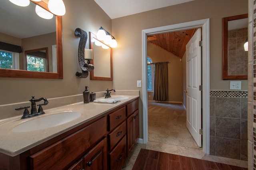
[[[154,72],[155,72],[155,67],[154,64],[152,64],[152,60],[150,57],[147,57],[147,83],[148,83],[148,91],[154,91]]]

